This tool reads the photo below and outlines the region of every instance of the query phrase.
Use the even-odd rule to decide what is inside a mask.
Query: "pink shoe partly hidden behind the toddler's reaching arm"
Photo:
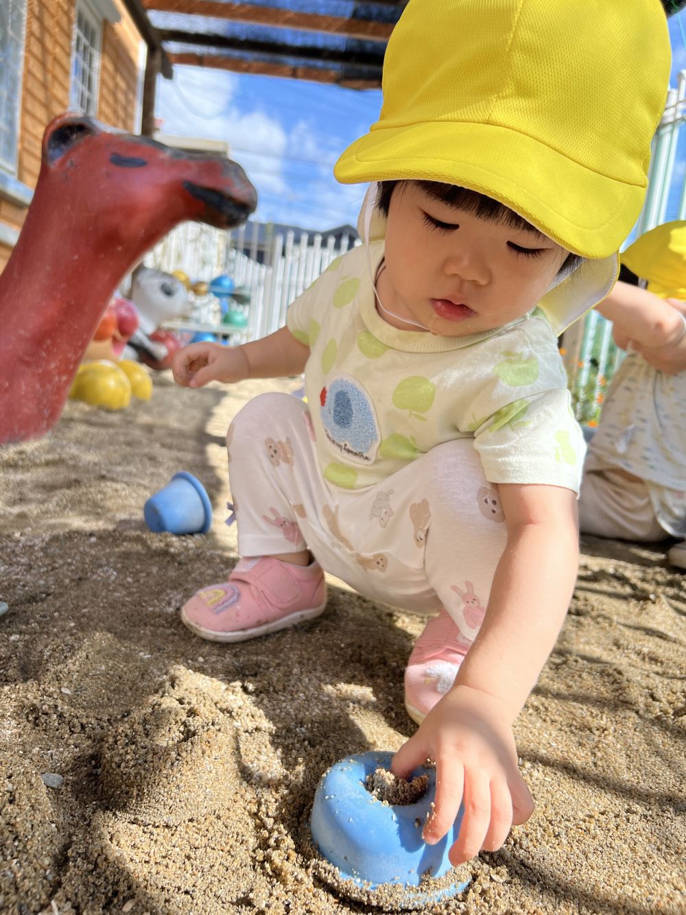
[[[405,668],[405,708],[418,725],[453,685],[471,643],[445,608],[424,627]]]

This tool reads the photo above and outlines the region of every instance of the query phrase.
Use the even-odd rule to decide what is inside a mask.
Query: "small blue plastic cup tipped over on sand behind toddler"
[[[164,490],[155,492],[143,509],[145,523],[153,533],[208,533],[212,505],[202,483],[179,470]]]

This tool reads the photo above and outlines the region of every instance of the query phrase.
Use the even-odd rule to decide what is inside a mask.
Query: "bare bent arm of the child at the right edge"
[[[623,350],[629,343],[637,350],[673,347],[686,328],[683,312],[670,299],[621,280],[595,309],[613,322],[616,344]]]

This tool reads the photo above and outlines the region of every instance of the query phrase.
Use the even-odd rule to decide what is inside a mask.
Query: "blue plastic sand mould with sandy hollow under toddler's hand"
[[[435,770],[419,768],[410,780],[428,775],[422,797],[412,804],[382,803],[364,786],[374,770],[391,768],[392,753],[359,753],[341,759],[327,770],[315,793],[310,816],[312,837],[319,853],[338,867],[341,877],[373,889],[381,883],[418,887],[427,871],[443,877],[451,869],[448,851],[456,841],[462,808],[450,832],[436,845],[426,845],[422,827],[435,795]],[[468,881],[467,881],[468,882]],[[413,892],[414,902],[437,902],[461,893],[467,883]]]

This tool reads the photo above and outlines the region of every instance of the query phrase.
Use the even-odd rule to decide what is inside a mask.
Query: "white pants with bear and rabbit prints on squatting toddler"
[[[241,555],[308,548],[360,594],[415,613],[443,605],[465,643],[474,639],[506,525],[471,439],[344,490],[318,468],[306,404],[266,393],[236,415],[227,446]]]

